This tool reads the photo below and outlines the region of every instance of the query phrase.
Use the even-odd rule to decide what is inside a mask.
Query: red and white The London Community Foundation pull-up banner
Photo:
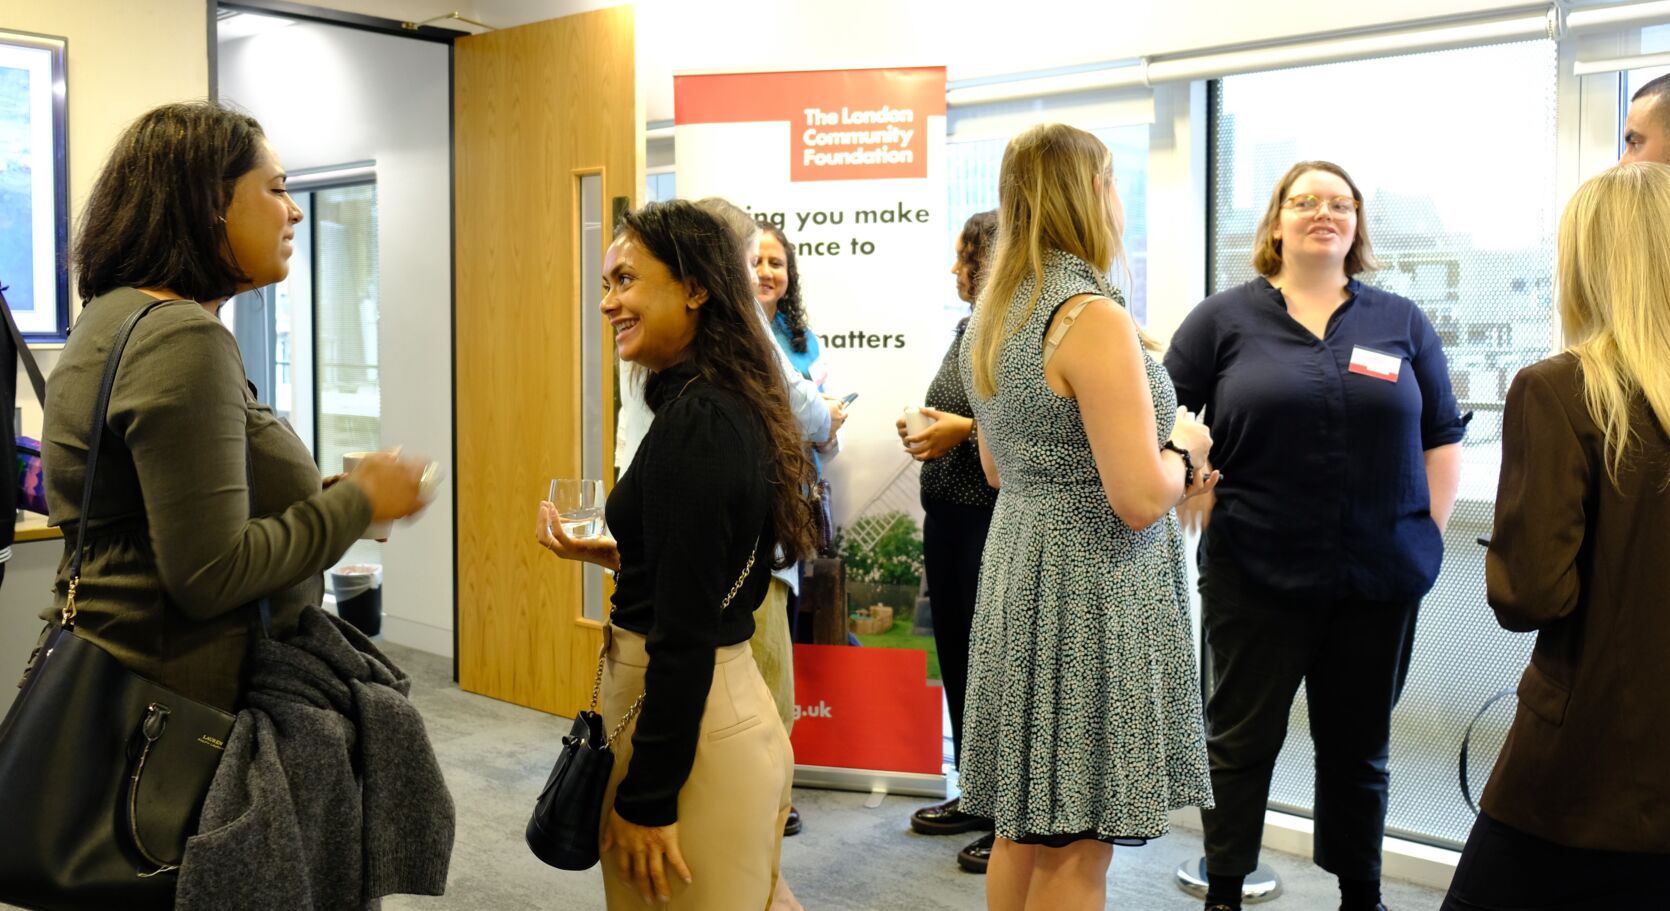
[[[782,229],[818,339],[815,379],[858,394],[823,474],[860,632],[907,647],[797,647],[797,759],[855,773],[837,786],[868,789],[875,773],[942,788],[940,689],[908,651],[932,642],[913,622],[917,472],[893,420],[922,404],[959,317],[945,307],[945,68],[676,75],[673,93],[678,195],[725,197]]]

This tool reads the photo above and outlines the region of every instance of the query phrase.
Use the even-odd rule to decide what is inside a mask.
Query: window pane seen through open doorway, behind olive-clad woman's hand
[[[319,469],[342,471],[346,452],[382,444],[377,377],[377,189],[337,187],[312,194],[314,370],[317,372]],[[361,541],[346,562],[377,562]]]

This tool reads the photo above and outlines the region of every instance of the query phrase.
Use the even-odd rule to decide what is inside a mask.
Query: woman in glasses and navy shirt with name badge
[[[1261,277],[1201,302],[1166,354],[1177,404],[1204,412],[1224,477],[1196,519],[1211,521],[1201,592],[1212,911],[1241,908],[1258,868],[1301,681],[1316,863],[1339,878],[1343,911],[1383,908],[1391,709],[1443,559],[1465,419],[1426,315],[1354,279],[1376,267],[1366,222],[1339,165],[1299,162],[1259,224]]]

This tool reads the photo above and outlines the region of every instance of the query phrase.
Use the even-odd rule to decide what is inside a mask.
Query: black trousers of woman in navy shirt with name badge
[[[1378,879],[1391,709],[1409,672],[1420,601],[1294,597],[1247,579],[1211,536],[1206,551],[1206,747],[1217,801],[1201,813],[1207,871],[1258,868],[1276,754],[1304,682],[1316,864],[1341,879]]]

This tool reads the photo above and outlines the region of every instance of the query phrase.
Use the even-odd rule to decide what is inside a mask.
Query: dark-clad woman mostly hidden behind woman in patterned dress
[[[974,304],[980,279],[997,242],[997,212],[979,212],[962,225],[957,237],[957,297]],[[962,756],[962,701],[969,686],[969,627],[974,622],[974,594],[980,581],[980,554],[985,529],[992,524],[997,491],[985,482],[980,449],[974,437],[974,414],[969,394],[957,374],[957,350],[969,317],[957,324],[957,334],[945,349],[945,360],[929,384],[922,414],[934,419],[920,434],[910,434],[905,419],[897,422],[905,450],[922,462],[922,557],[934,599],[934,644],[939,647],[940,677],[950,707],[950,736]],[[990,829],[992,821],[959,809],[959,798],[925,806],[910,814],[910,828],[922,834],[959,834]],[[957,863],[972,873],[985,873],[992,854],[987,833],[957,854]]]

